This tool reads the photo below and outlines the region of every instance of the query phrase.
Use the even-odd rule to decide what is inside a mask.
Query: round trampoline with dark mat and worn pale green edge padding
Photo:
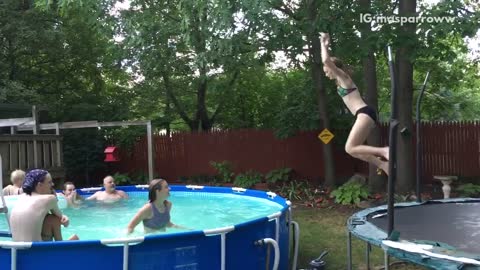
[[[384,249],[386,255],[431,269],[480,269],[480,200],[449,199],[395,204],[394,232],[387,240],[387,206],[369,208],[348,220],[351,235]]]

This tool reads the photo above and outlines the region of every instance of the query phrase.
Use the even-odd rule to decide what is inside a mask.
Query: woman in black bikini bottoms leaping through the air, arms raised
[[[388,174],[388,146],[373,147],[364,145],[370,131],[375,127],[377,114],[362,99],[357,86],[351,78],[351,71],[339,59],[330,57],[328,47],[330,37],[327,33],[321,35],[322,62],[325,75],[335,80],[337,92],[342,97],[348,110],[355,115],[350,134],[345,144],[345,151],[354,158],[369,162]],[[384,160],[381,160],[384,159]]]

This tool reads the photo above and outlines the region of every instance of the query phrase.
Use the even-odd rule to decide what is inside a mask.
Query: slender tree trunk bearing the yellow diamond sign
[[[321,48],[320,48],[320,38],[318,31],[315,27],[316,17],[318,15],[318,8],[316,6],[316,0],[306,1],[307,10],[309,11],[309,21],[312,26],[311,29],[307,30],[309,46],[309,55],[310,63],[312,69],[312,78],[315,90],[318,97],[318,113],[320,117],[320,129],[330,129],[330,120],[328,119],[327,114],[327,104],[326,104],[326,94],[325,87],[322,82],[323,76],[323,67],[321,61]],[[325,181],[324,185],[327,187],[335,186],[335,162],[333,159],[333,146],[332,144],[323,144],[323,160],[324,160],[324,172],[325,172]]]

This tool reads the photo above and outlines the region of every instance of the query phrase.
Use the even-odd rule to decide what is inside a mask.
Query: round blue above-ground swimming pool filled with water
[[[146,186],[118,189],[129,194],[128,203],[86,202],[80,209],[63,209],[71,220],[70,226],[63,228],[63,237],[76,233],[80,241],[0,241],[0,269],[289,268],[290,203],[274,193],[171,186],[172,222],[188,230],[143,235],[139,224],[127,236],[126,225],[146,202],[148,190]],[[97,190],[78,193],[88,196]],[[59,203],[65,206],[62,200]],[[93,216],[77,217],[82,211]]]

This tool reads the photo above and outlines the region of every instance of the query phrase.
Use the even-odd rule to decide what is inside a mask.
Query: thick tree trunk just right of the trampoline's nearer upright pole
[[[400,1],[400,16],[415,16],[416,0]],[[413,128],[413,63],[410,56],[413,55],[415,28],[413,23],[404,24],[400,27],[400,46],[397,50],[397,106],[399,131],[406,128],[397,140],[397,183],[396,190],[405,193],[413,189],[415,180],[415,167],[413,155],[413,140],[411,131]]]

